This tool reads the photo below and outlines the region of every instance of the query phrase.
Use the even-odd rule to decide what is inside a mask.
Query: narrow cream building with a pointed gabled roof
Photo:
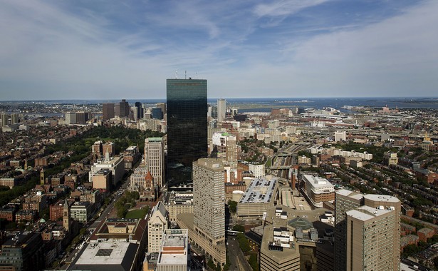
[[[168,225],[169,213],[165,205],[159,201],[147,220],[147,252],[160,252],[162,237]]]

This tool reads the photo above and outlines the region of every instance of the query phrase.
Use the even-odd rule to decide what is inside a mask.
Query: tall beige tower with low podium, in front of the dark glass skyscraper
[[[177,224],[189,230],[189,239],[215,263],[224,265],[225,192],[221,160],[201,158],[193,163],[193,214],[177,215]]]

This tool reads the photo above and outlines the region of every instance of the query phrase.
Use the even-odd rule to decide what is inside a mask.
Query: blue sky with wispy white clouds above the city
[[[438,96],[438,1],[1,0],[0,101]]]

